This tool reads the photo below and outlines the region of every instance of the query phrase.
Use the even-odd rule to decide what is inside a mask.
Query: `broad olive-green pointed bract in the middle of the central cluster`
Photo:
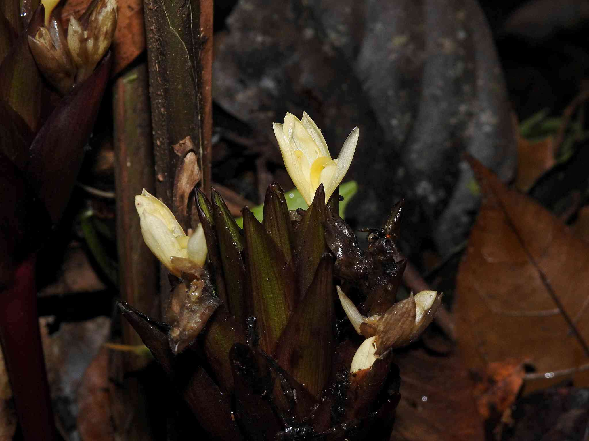
[[[293,280],[286,277],[286,263],[266,229],[253,213],[243,211],[246,237],[246,266],[250,283],[250,312],[257,317],[260,346],[267,354],[288,322],[293,298]]]

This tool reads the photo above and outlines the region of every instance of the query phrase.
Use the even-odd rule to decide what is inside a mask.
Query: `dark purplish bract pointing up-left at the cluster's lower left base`
[[[173,380],[174,386],[184,397],[198,422],[216,439],[240,440],[239,428],[230,417],[229,396],[221,393],[202,366],[197,366],[194,370],[180,369],[180,372],[176,369],[174,356],[168,345],[166,324],[149,318],[125,302],[118,302],[117,306],[155,360]],[[189,372],[188,377],[186,372]]]

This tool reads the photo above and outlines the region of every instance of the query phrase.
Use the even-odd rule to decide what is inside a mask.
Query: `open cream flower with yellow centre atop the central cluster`
[[[327,202],[352,162],[358,143],[358,127],[343,143],[337,159],[332,159],[321,131],[306,112],[303,112],[301,121],[287,113],[283,124],[272,123],[272,126],[286,171],[307,204],[311,205],[321,183]]]

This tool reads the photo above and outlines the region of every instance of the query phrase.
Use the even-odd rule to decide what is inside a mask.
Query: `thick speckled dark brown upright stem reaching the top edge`
[[[174,201],[184,199],[174,198],[174,182],[189,155],[196,155],[200,188],[210,185],[213,1],[145,0],[144,12],[156,195],[186,230],[196,226],[191,225],[197,222],[196,211],[175,206]],[[187,136],[194,148],[174,151],[173,146]],[[194,166],[190,168],[194,173]],[[167,271],[161,272],[160,288],[165,309],[170,292]]]

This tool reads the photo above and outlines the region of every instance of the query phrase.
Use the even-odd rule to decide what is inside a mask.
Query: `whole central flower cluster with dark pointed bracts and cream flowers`
[[[174,356],[189,346],[206,360],[178,386],[214,438],[363,439],[391,422],[399,400],[392,351],[421,335],[441,294],[395,301],[405,268],[395,245],[402,203],[370,233],[366,250],[339,217],[332,195],[352,161],[358,128],[332,159],[306,113],[301,121],[287,113],[273,127],[309,208],[289,211],[273,183],[263,221],[245,208],[241,229],[219,193],[209,200],[197,190],[200,224],[189,237],[144,190],[135,198],[143,238],[177,278],[170,279],[165,325],[120,308],[171,378],[178,378]]]

